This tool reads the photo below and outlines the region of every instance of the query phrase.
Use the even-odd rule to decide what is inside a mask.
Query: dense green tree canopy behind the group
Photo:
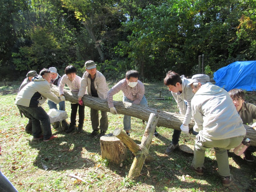
[[[255,0],[1,0],[0,76],[94,60],[108,78],[136,69],[142,80],[169,70],[207,72],[255,60]]]

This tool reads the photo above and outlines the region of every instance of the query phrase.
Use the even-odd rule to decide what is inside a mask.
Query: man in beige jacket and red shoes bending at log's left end
[[[41,70],[40,76],[34,77],[32,82],[23,87],[15,100],[20,111],[32,119],[33,140],[44,138],[44,141],[49,141],[56,137],[52,135],[50,118],[41,107],[47,98],[55,103],[61,101],[51,92],[50,81],[51,72],[48,69]],[[44,130],[43,135],[40,121]]]

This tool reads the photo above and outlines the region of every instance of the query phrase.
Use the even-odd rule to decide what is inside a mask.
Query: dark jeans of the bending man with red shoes
[[[21,110],[21,112],[24,115],[31,118],[32,132],[33,132],[34,138],[38,138],[42,134],[41,125],[40,125],[40,121],[41,121],[43,130],[44,130],[44,140],[50,139],[50,137],[52,136],[50,117],[41,106],[25,107],[22,105],[17,105],[17,107]]]

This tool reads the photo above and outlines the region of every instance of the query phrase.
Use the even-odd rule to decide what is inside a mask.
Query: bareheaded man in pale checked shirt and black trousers
[[[68,85],[69,90],[71,92],[79,92],[81,86],[82,78],[76,75],[76,68],[73,65],[69,65],[65,69],[65,74],[63,75],[60,84],[59,84],[59,92],[61,100],[65,100],[64,96],[64,86],[65,84]],[[78,132],[83,132],[83,125],[84,125],[84,105],[79,105],[78,103],[71,103],[71,115],[70,115],[70,126],[66,133],[72,132],[76,128],[76,113],[78,108]]]

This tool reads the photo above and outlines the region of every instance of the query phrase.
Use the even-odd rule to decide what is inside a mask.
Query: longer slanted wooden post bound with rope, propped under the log
[[[131,169],[129,171],[128,177],[132,179],[136,179],[140,176],[140,171],[142,169],[142,166],[144,164],[144,161],[146,159],[145,152],[148,152],[148,149],[151,145],[152,138],[156,129],[157,121],[158,121],[159,116],[157,114],[151,113],[148,119],[148,124],[146,127],[146,130],[144,132],[144,135],[141,140],[140,150],[132,163]],[[141,153],[140,153],[141,152]]]

